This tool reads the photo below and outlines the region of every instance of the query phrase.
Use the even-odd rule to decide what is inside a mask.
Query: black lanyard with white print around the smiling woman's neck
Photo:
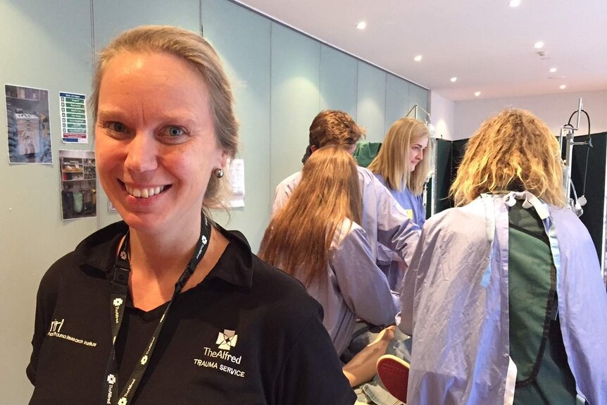
[[[120,325],[123,323],[123,315],[125,313],[125,306],[129,292],[129,275],[131,270],[128,256],[129,234],[127,233],[125,236],[124,242],[120,247],[118,257],[116,257],[116,261],[114,263],[114,278],[112,280],[110,294],[112,351],[110,353],[110,358],[108,359],[106,374],[104,375],[104,396],[101,398],[101,404],[127,405],[132,402],[134,394],[137,391],[137,387],[139,386],[139,382],[141,382],[147,369],[151,355],[154,353],[154,347],[156,347],[156,342],[158,342],[158,336],[160,335],[160,332],[164,326],[170,306],[177,298],[177,295],[180,294],[182,288],[187,280],[189,280],[192,273],[194,273],[196,266],[198,266],[202,260],[204,254],[206,253],[206,249],[208,248],[208,240],[210,237],[211,225],[209,225],[208,220],[203,214],[200,226],[200,238],[196,244],[196,249],[194,249],[194,254],[192,254],[192,259],[190,259],[189,263],[187,263],[187,268],[185,268],[181,277],[175,283],[175,292],[173,292],[173,297],[171,297],[170,301],[168,302],[168,306],[166,307],[158,326],[156,326],[156,330],[154,330],[154,335],[152,335],[149,344],[135,365],[133,372],[123,388],[123,392],[121,392],[120,397],[118,397],[118,364],[116,363],[115,342],[116,338],[118,337],[118,332],[120,332]]]

